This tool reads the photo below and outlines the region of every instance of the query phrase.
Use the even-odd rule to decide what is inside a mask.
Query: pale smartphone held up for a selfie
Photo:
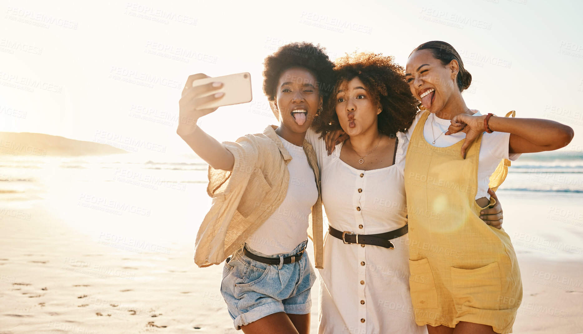
[[[206,85],[211,82],[222,82],[223,87],[213,90],[203,96],[209,96],[219,92],[224,95],[221,99],[209,103],[201,104],[197,109],[210,109],[222,106],[231,106],[232,104],[240,104],[251,102],[251,75],[248,72],[237,73],[225,76],[217,76],[216,78],[205,78],[194,80],[192,87]],[[201,96],[201,97],[203,97]]]

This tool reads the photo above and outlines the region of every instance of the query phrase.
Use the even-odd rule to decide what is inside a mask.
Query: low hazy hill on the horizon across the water
[[[129,153],[111,145],[31,132],[0,132],[0,154],[13,156],[103,156]]]

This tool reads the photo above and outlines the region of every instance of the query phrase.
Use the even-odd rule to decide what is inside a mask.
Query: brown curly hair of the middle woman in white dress
[[[417,114],[419,101],[415,99],[405,82],[405,71],[396,65],[394,58],[371,52],[353,52],[335,61],[336,84],[333,94],[340,85],[359,78],[366,86],[376,106],[382,109],[378,114],[378,131],[395,135],[411,126]],[[329,99],[317,121],[315,131],[324,135],[326,131],[342,129],[336,115],[336,99]]]

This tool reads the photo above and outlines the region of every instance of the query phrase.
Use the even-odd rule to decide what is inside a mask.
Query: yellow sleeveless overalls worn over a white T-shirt
[[[419,119],[405,160],[415,322],[455,327],[466,321],[511,333],[522,282],[510,237],[479,217],[484,208],[475,196],[482,135],[462,159],[463,139],[448,147],[425,140],[428,115],[425,111]]]

